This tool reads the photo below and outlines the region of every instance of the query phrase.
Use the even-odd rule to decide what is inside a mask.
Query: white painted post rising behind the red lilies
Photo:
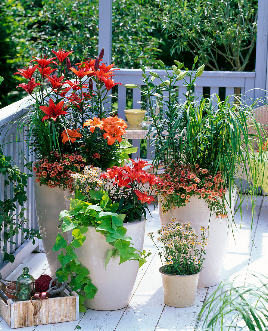
[[[112,0],[99,0],[99,52],[104,47],[103,62],[112,61]]]

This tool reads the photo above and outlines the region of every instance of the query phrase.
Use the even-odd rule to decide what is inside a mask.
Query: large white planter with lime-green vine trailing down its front
[[[145,220],[124,223],[127,236],[135,248],[142,251]],[[98,291],[93,299],[86,299],[86,307],[96,310],[117,310],[129,304],[138,272],[138,261],[126,261],[119,264],[119,258],[110,259],[105,269],[105,259],[113,246],[106,243],[106,238],[96,232],[94,226],[88,226],[86,240],[75,252],[81,262],[89,270],[89,277]]]

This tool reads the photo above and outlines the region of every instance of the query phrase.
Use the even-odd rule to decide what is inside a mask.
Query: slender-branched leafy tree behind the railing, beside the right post
[[[252,70],[257,0],[159,0],[154,22],[173,41],[171,54],[188,51],[212,70]]]

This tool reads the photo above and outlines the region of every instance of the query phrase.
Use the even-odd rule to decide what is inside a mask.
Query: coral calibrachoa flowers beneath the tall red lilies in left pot
[[[80,172],[84,166],[86,163],[77,153],[59,156],[55,152],[35,162],[32,170],[35,171],[37,177],[35,181],[39,185],[48,185],[50,188],[59,186],[72,192],[74,190],[72,174]]]

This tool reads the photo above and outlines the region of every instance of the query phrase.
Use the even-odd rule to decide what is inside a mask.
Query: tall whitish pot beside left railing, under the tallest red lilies
[[[52,276],[55,275],[56,270],[61,266],[57,259],[59,252],[53,252],[52,247],[55,245],[57,234],[61,234],[61,229],[58,228],[60,212],[70,209],[69,200],[64,198],[68,194],[68,190],[63,191],[58,186],[49,188],[47,185],[40,186],[36,182],[34,183],[37,221]],[[68,240],[66,233],[61,235]]]

